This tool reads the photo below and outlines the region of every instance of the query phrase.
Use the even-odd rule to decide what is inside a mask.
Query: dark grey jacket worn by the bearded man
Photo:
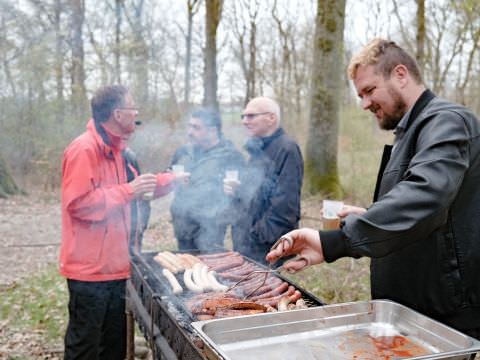
[[[480,328],[479,136],[474,114],[426,90],[385,161],[376,201],[342,231],[321,232],[326,260],[370,256],[372,298]]]

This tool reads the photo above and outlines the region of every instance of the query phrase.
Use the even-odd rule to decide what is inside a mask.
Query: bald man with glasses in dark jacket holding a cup
[[[240,181],[224,182],[238,219],[234,250],[265,263],[265,255],[282,234],[298,227],[303,158],[298,144],[280,127],[280,107],[268,97],[248,102],[241,115],[250,155]]]

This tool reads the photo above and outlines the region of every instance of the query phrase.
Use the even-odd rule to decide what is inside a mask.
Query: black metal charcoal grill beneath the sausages
[[[186,299],[171,293],[170,285],[161,275],[162,267],[153,259],[156,254],[145,252],[133,255],[131,279],[127,283],[127,311],[133,315],[149,342],[154,358],[223,359],[203,342],[192,327],[191,324],[196,318],[187,309],[184,303]],[[245,260],[255,263],[247,257]],[[265,268],[258,263],[255,264]],[[291,280],[281,274],[277,276],[294,285],[302,293],[308,307],[323,305],[320,299]],[[132,324],[129,327],[133,329]]]

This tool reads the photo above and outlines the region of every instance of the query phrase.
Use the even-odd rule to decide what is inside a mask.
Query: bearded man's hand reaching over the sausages
[[[298,255],[283,264],[283,268],[289,272],[297,272],[306,266],[322,263],[325,259],[318,231],[309,228],[290,231],[270,249],[266,260],[275,263],[288,255]]]

